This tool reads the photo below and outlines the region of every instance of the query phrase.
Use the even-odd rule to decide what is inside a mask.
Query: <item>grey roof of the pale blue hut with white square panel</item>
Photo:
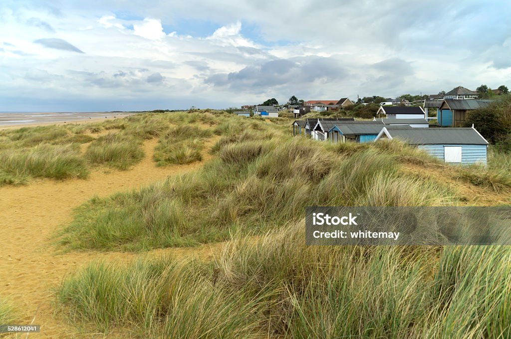
[[[423,144],[472,144],[486,145],[488,142],[473,128],[411,128],[386,126],[392,138],[414,145]]]

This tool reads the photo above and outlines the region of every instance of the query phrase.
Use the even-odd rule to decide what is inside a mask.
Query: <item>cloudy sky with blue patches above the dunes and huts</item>
[[[511,88],[509,17],[495,0],[2,0],[0,111]]]

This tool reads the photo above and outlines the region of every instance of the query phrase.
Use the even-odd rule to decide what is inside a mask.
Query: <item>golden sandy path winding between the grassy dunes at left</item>
[[[41,333],[29,337],[83,337],[65,319],[53,314],[55,296],[49,292],[73,269],[92,259],[130,259],[130,253],[70,252],[56,255],[50,237],[72,210],[94,195],[107,196],[124,189],[165,179],[197,168],[201,163],[155,167],[152,154],[157,140],[144,144],[146,157],[130,171],[97,169],[87,180],[34,180],[27,186],[0,188],[0,296],[8,297],[26,317],[28,324],[41,325]],[[206,145],[211,146],[212,142]],[[205,153],[205,152],[204,152]],[[204,154],[204,158],[209,156]],[[156,250],[155,254],[211,253],[209,246],[195,249]],[[89,335],[86,335],[86,337]],[[92,335],[94,336],[94,335]],[[26,337],[22,335],[19,337]]]

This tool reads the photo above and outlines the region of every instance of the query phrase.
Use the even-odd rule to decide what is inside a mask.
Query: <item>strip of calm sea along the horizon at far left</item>
[[[121,117],[128,112],[0,112],[0,126],[63,123],[101,117]]]

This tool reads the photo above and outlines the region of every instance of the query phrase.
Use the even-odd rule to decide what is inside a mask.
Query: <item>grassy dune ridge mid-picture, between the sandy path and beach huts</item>
[[[62,244],[108,250],[189,246],[296,222],[306,206],[455,201],[447,186],[400,173],[397,156],[374,147],[346,156],[311,140],[246,131],[220,138],[213,150],[217,157],[199,171],[89,201],[64,230]]]

